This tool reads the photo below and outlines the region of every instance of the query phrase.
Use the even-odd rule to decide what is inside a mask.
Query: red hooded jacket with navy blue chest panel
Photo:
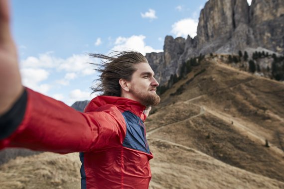
[[[147,189],[153,158],[145,138],[145,106],[98,96],[78,112],[27,89],[24,119],[0,149],[24,147],[56,153],[81,152],[82,189]]]

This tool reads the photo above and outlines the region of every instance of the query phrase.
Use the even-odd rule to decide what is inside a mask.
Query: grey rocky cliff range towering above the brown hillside
[[[262,47],[284,53],[284,1],[209,0],[200,12],[197,36],[166,36],[164,52],[146,54],[160,84],[177,74],[189,58],[208,53],[237,53]]]

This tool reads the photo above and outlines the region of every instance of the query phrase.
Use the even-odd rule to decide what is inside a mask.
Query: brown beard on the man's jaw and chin
[[[134,89],[130,92],[132,92],[132,94],[139,99],[140,103],[145,106],[157,105],[158,103],[160,103],[160,97],[157,94],[150,94],[149,91],[147,93],[143,93]]]

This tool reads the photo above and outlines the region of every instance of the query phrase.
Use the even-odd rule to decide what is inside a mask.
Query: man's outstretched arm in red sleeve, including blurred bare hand
[[[69,153],[117,145],[125,136],[124,119],[119,110],[110,109],[80,113],[63,102],[24,89],[10,33],[8,0],[0,0],[0,149]],[[20,114],[23,118],[15,125]]]

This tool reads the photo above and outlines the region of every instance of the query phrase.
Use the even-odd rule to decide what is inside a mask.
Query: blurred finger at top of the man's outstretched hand
[[[0,43],[10,41],[10,11],[8,0],[0,0]]]

